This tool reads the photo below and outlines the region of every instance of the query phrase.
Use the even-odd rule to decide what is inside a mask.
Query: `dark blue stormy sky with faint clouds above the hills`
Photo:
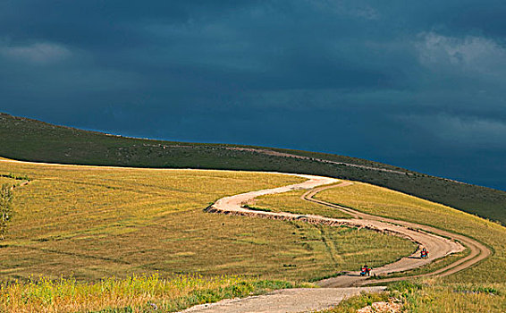
[[[506,190],[506,2],[0,2],[0,111]]]

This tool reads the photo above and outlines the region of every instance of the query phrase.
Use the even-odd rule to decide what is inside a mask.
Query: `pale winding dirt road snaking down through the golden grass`
[[[419,277],[426,275],[451,275],[490,256],[491,251],[480,242],[474,241],[466,236],[446,232],[432,226],[415,224],[392,218],[372,216],[366,213],[358,212],[348,207],[341,207],[319,199],[314,199],[316,193],[337,187],[346,187],[351,182],[339,182],[336,179],[313,175],[294,174],[299,177],[307,178],[308,181],[280,188],[269,190],[257,190],[239,195],[219,199],[215,204],[207,207],[209,213],[219,213],[235,216],[254,216],[269,219],[280,220],[298,220],[310,224],[325,224],[330,226],[348,225],[358,228],[367,228],[381,233],[390,233],[395,236],[409,239],[416,242],[420,247],[426,247],[430,251],[430,258],[419,258],[419,252],[415,251],[412,255],[401,258],[400,260],[374,269],[376,275],[388,275],[395,272],[404,272],[420,266],[427,265],[438,258],[443,258],[451,253],[460,252],[466,249],[469,254],[465,258],[460,258],[448,266],[444,266],[434,272],[424,275],[409,276]],[[243,207],[244,204],[259,196],[282,193],[290,190],[308,190],[302,195],[302,199],[316,202],[318,204],[333,207],[352,216],[350,219],[329,218],[325,216],[297,215],[286,212],[265,212],[255,211]],[[466,246],[466,247],[464,247]],[[375,280],[374,283],[386,283],[396,280],[404,280],[403,277],[392,277],[381,280]],[[325,309],[338,304],[342,299],[358,294],[361,291],[372,292],[383,290],[379,287],[375,289],[363,289],[370,287],[357,288],[367,283],[368,277],[360,276],[358,272],[347,272],[337,277],[328,278],[317,284],[324,288],[318,289],[294,289],[271,292],[269,294],[249,297],[241,300],[223,300],[212,305],[204,305],[187,309],[183,312],[301,312]],[[376,287],[377,288],[377,287]],[[332,291],[334,289],[334,291]]]

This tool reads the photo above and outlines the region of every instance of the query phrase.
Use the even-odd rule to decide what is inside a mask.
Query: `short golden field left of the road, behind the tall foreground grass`
[[[304,179],[278,174],[0,163],[28,175],[14,190],[0,278],[77,280],[153,274],[249,275],[308,281],[414,250],[396,237],[350,228],[203,211],[224,196]],[[359,245],[357,244],[359,242]]]

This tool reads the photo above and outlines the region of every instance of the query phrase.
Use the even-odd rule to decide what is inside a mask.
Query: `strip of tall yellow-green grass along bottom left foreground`
[[[109,277],[96,283],[78,282],[73,277],[55,281],[40,277],[24,283],[0,283],[0,311],[173,312],[197,304],[294,286],[299,285],[236,275],[176,275],[172,278],[157,274],[132,275],[124,279]]]

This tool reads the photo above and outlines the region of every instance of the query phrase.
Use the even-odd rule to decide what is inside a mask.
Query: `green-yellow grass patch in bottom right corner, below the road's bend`
[[[403,312],[506,311],[506,284],[443,283],[438,279],[392,283],[387,292],[364,293],[322,313],[357,312],[374,302],[401,300]]]

